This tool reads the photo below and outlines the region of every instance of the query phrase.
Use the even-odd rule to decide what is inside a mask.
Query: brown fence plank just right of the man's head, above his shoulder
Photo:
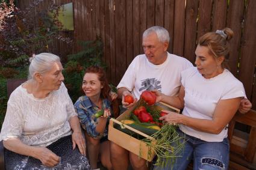
[[[173,53],[184,55],[184,32],[185,31],[185,0],[175,1]]]

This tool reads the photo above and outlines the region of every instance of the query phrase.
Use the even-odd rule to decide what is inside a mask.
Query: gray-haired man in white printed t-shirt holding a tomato
[[[186,58],[167,52],[169,40],[169,32],[161,26],[152,26],[143,33],[142,46],[145,54],[133,59],[117,85],[117,94],[125,108],[133,106],[145,90],[156,89],[167,96],[178,95],[181,71],[193,65]],[[130,105],[123,102],[127,95],[136,98]],[[248,102],[249,100],[243,102],[245,112],[251,108],[251,103]],[[128,169],[129,160],[133,169],[148,169],[145,159],[111,142],[113,169]]]

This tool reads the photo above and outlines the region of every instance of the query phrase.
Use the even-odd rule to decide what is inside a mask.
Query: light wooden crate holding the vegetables
[[[146,135],[145,133],[140,132],[139,130],[134,129],[133,127],[127,126],[123,123],[121,123],[121,120],[125,120],[130,117],[131,112],[134,110],[134,108],[137,108],[139,106],[140,102],[137,102],[136,105],[134,105],[132,108],[125,111],[122,115],[115,119],[110,119],[110,124],[108,126],[108,140],[114,142],[115,144],[119,145],[120,147],[125,148],[128,151],[131,151],[134,154],[137,154],[138,156],[142,157],[143,159],[148,160],[149,162],[152,161],[152,159],[155,156],[154,151],[152,151],[148,145],[146,145],[145,142],[140,141],[139,139],[133,138],[133,136],[127,135],[126,133],[121,132],[120,130],[117,130],[114,128],[114,123],[120,124],[123,127],[145,137],[148,139],[151,139],[152,142],[155,141],[154,138],[151,136]],[[180,109],[173,108],[172,106],[167,105],[166,103],[160,102],[157,106],[157,109],[159,110],[170,110],[176,113],[180,113]]]

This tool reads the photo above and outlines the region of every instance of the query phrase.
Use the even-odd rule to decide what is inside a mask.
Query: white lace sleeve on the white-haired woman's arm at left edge
[[[10,138],[20,138],[20,135],[22,135],[23,115],[20,106],[21,101],[17,100],[19,97],[16,97],[16,94],[11,95],[8,100],[0,141]]]

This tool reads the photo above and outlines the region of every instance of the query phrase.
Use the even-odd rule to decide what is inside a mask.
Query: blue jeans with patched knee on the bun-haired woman
[[[184,133],[178,130],[180,135]],[[222,142],[206,142],[193,136],[185,136],[186,144],[184,150],[176,157],[174,163],[167,163],[166,166],[155,166],[154,169],[186,169],[193,159],[193,169],[228,169],[229,163],[229,142],[223,139]]]

